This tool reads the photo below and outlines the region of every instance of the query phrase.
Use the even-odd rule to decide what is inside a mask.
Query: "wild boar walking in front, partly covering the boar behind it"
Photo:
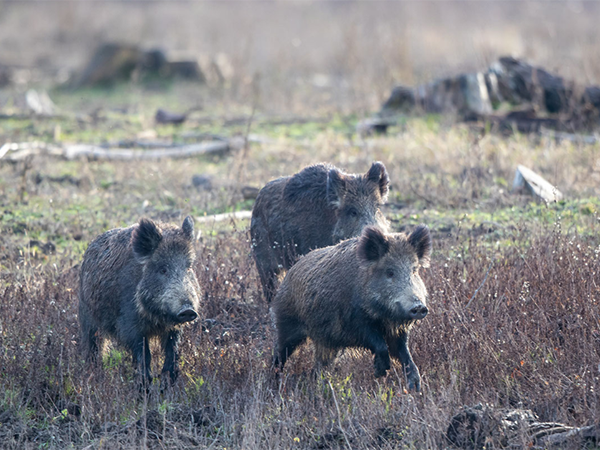
[[[411,325],[427,315],[427,290],[419,275],[428,267],[431,237],[425,225],[410,235],[365,228],[360,237],[313,250],[289,270],[273,300],[277,326],[274,364],[309,337],[316,366],[326,366],[340,349],[375,354],[375,376],[386,374],[390,355],[406,373],[409,389],[421,389],[419,370],[408,350]]]

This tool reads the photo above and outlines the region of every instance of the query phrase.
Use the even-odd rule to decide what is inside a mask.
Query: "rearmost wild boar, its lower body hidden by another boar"
[[[299,256],[358,236],[367,225],[387,229],[379,208],[387,199],[388,185],[381,162],[374,162],[364,175],[316,164],[267,183],[256,198],[250,224],[267,301],[275,295],[278,274]]]

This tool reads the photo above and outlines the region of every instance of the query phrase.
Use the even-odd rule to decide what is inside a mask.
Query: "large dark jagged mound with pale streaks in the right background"
[[[494,106],[501,103],[531,107],[541,113],[535,119],[504,122],[516,125],[519,131],[589,128],[598,125],[600,119],[600,86],[579,87],[542,67],[502,57],[482,72],[440,78],[414,89],[397,86],[378,116],[405,114],[420,108],[427,113],[459,114],[465,120],[498,122],[502,118],[491,114]]]

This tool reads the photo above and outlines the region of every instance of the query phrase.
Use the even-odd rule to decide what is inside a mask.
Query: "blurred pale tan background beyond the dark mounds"
[[[52,85],[82,70],[100,44],[127,43],[214,62],[223,100],[273,112],[372,111],[395,84],[483,69],[503,55],[596,83],[599,8],[593,0],[2,0],[0,65],[26,69],[12,77],[17,85]]]

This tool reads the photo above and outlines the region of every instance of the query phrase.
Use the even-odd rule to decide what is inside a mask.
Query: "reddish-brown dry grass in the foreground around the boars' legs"
[[[436,241],[424,276],[432,312],[411,342],[424,382],[416,396],[403,392],[398,367],[374,381],[372,357],[361,352],[314,379],[307,348],[278,381],[246,232],[198,244],[203,320],[186,331],[180,383],[166,394],[155,385],[147,397],[127,354],[112,350],[103,371],[85,367],[76,267],[26,265],[0,292],[4,445],[442,448],[450,417],[479,402],[594,423],[600,246],[552,229],[522,244],[490,252],[467,232]]]

